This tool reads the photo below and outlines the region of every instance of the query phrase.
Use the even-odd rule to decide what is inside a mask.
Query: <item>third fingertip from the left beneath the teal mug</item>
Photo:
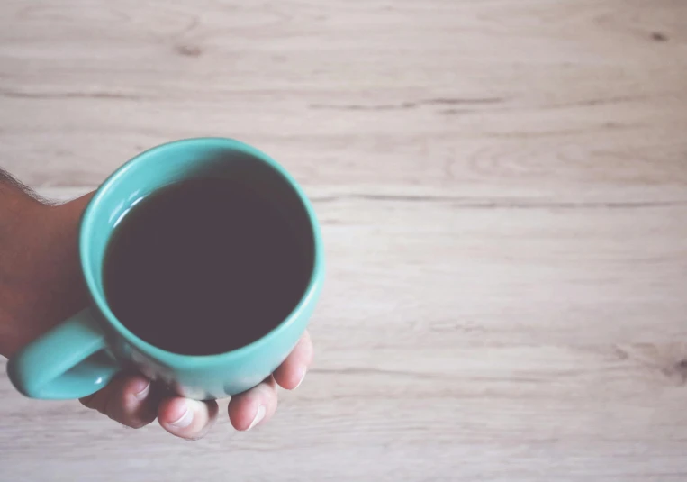
[[[250,430],[267,422],[276,412],[276,383],[268,377],[258,387],[233,396],[229,402],[229,419],[236,430]]]

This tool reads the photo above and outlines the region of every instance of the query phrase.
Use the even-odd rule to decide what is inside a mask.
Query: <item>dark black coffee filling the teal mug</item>
[[[312,253],[302,228],[267,188],[218,178],[167,186],[115,228],[104,261],[107,302],[158,348],[189,355],[240,348],[303,296]]]

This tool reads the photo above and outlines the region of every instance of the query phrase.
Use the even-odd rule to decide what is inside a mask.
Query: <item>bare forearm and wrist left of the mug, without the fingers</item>
[[[77,232],[89,198],[47,205],[0,171],[0,354],[5,357],[86,305]]]

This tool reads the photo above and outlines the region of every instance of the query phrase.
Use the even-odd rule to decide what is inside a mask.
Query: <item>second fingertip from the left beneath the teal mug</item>
[[[187,441],[196,441],[210,430],[217,419],[217,402],[198,402],[181,396],[162,400],[158,422],[167,432]]]

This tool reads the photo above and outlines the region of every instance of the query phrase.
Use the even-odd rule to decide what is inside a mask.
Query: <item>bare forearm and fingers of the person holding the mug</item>
[[[50,205],[0,169],[0,354],[5,357],[87,305],[77,233],[91,196]],[[234,428],[246,431],[267,422],[276,411],[277,386],[298,387],[311,363],[306,332],[271,377],[231,398],[228,414]],[[132,428],[157,418],[167,432],[190,441],[202,438],[219,412],[214,401],[159,396],[138,373],[115,377],[80,402]]]

